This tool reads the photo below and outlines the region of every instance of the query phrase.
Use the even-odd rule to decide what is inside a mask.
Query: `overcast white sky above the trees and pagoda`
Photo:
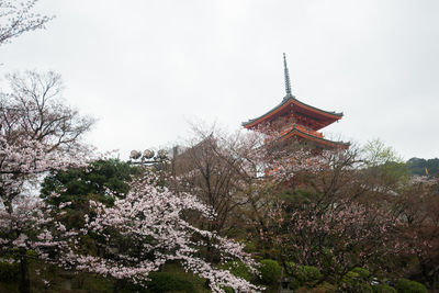
[[[293,94],[345,117],[324,129],[439,157],[439,1],[41,0],[56,15],[0,47],[0,74],[55,70],[99,119],[100,150],[167,146],[188,121],[229,129]]]

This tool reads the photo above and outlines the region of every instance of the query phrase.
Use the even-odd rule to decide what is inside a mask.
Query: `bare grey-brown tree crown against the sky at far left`
[[[25,136],[43,142],[47,151],[76,151],[94,123],[67,106],[59,74],[25,71],[7,75],[10,90],[0,93],[0,131],[9,142]]]

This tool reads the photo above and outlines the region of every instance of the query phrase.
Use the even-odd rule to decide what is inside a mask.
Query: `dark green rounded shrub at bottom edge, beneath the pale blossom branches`
[[[193,284],[182,275],[171,274],[167,272],[151,272],[149,273],[149,278],[151,280],[146,282],[146,292],[196,292]]]

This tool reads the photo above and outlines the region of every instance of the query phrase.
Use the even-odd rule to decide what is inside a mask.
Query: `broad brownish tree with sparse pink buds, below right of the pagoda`
[[[339,282],[354,267],[384,269],[407,250],[398,237],[405,223],[385,201],[394,189],[371,179],[360,155],[354,148],[322,151],[316,168],[297,172],[278,193],[261,237],[274,244],[285,269],[289,261],[315,266]]]

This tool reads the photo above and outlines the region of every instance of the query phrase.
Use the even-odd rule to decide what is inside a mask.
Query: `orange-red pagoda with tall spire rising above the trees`
[[[319,129],[338,122],[342,113],[324,111],[305,104],[291,93],[290,74],[283,54],[286,95],[263,115],[244,122],[247,129],[266,133],[268,139],[295,139],[319,149],[348,148],[349,144],[326,139]]]

